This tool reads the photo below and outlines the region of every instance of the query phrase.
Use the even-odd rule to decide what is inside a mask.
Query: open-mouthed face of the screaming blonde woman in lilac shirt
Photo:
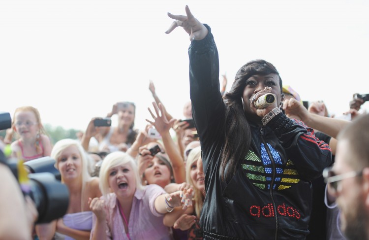
[[[108,184],[118,198],[131,198],[136,191],[136,176],[129,163],[109,169]]]

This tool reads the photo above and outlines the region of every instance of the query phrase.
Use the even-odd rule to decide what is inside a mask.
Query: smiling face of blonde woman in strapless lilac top
[[[62,150],[58,157],[58,169],[64,182],[82,178],[82,158],[76,146],[71,145]]]

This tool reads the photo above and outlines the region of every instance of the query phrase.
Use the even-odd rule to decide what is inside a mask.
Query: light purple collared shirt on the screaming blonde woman
[[[155,210],[155,199],[166,193],[156,184],[144,187],[144,190],[136,189],[134,193],[132,209],[129,215],[128,232],[131,240],[155,239],[171,240],[170,229],[163,224],[164,215]],[[107,206],[106,235],[112,240],[128,240],[124,230],[123,219],[117,205],[117,196],[110,193],[106,197],[101,196]],[[96,215],[92,216],[92,238],[96,222]]]

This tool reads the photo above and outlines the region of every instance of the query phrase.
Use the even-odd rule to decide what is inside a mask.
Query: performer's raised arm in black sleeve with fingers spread
[[[223,136],[225,105],[220,93],[218,52],[210,27],[197,20],[188,6],[185,12],[186,16],[168,13],[176,21],[166,33],[181,26],[189,34],[189,84],[193,119],[204,151],[207,152],[207,146]]]

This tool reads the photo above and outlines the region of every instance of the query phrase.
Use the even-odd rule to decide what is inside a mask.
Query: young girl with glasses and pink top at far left
[[[46,136],[38,110],[32,106],[15,109],[13,131],[19,139],[11,144],[12,157],[22,158],[27,162],[32,159],[50,156],[51,141]]]

